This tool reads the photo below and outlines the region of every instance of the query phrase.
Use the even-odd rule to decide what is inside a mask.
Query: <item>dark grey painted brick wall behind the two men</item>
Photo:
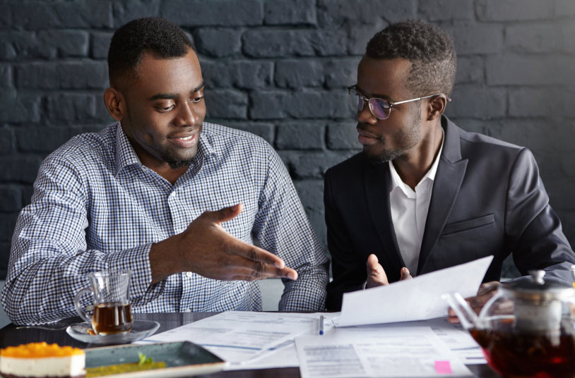
[[[40,161],[112,119],[102,104],[109,39],[136,17],[182,25],[198,48],[208,120],[268,140],[325,245],[322,176],[360,145],[345,87],[367,39],[422,18],[454,36],[447,114],[525,145],[575,243],[573,0],[15,0],[0,12],[0,277]],[[510,273],[512,274],[512,273]]]

